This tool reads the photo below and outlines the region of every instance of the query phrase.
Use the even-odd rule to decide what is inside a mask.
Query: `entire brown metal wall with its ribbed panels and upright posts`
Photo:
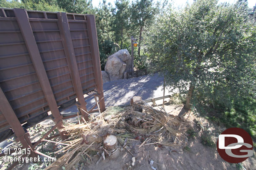
[[[95,21],[87,17],[0,8],[0,87],[21,124],[56,109],[50,101],[60,110],[78,98],[86,109],[84,94],[103,98]],[[10,124],[1,111],[3,132]]]

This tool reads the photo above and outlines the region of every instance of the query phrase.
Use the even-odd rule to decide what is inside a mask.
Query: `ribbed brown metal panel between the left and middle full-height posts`
[[[28,15],[57,104],[76,98],[57,19],[46,20],[44,13],[38,12]],[[51,13],[51,18],[57,18],[57,14]]]

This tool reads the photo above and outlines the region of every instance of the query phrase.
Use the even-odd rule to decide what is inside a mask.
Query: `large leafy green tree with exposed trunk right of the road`
[[[170,9],[149,33],[147,50],[166,83],[188,89],[181,115],[194,94],[228,107],[255,90],[256,26],[248,20],[247,3],[217,4],[196,0],[183,10]]]

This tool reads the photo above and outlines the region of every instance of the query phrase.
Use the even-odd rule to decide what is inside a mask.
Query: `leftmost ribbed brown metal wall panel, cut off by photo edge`
[[[0,86],[18,119],[24,123],[45,112],[47,101],[16,19],[0,18],[0,25]],[[0,118],[2,122],[3,117]],[[7,128],[9,126],[2,129]]]

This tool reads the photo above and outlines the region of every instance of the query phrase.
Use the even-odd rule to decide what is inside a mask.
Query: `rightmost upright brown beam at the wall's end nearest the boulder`
[[[100,59],[99,59],[98,36],[97,36],[94,15],[86,15],[86,20],[87,20],[87,30],[89,35],[92,61],[94,64],[94,73],[96,76],[95,81],[97,84],[97,91],[99,93],[99,96],[98,96],[99,107],[100,107],[100,111],[104,112],[106,108],[105,108],[105,101],[104,101],[104,94],[103,94],[103,81],[102,81],[101,66],[100,66]]]

